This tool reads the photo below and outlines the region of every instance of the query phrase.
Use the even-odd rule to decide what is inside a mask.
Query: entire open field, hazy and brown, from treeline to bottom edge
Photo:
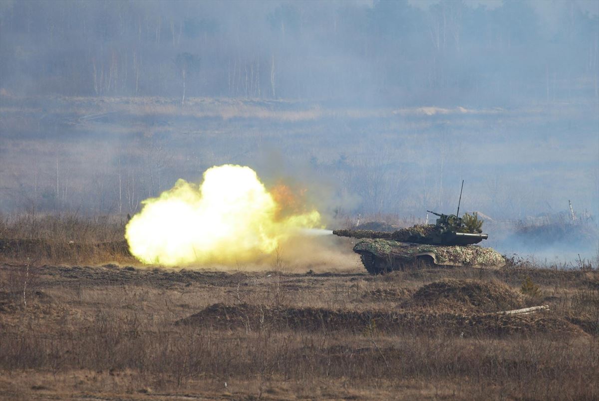
[[[594,203],[577,201],[595,199],[593,113],[4,96],[2,212],[26,214],[0,215],[0,397],[597,399],[597,229],[583,211]],[[582,257],[374,277],[344,239],[325,264],[286,249],[234,269],[140,265],[126,214],[222,163],[307,187],[329,228],[358,212],[423,223],[428,207],[453,210],[448,171],[467,169],[462,204],[497,220],[489,246]],[[568,178],[580,169],[586,181]],[[559,220],[565,196],[580,223]],[[528,221],[543,211],[544,225]],[[524,222],[514,241],[504,218]],[[537,305],[549,310],[495,314]]]

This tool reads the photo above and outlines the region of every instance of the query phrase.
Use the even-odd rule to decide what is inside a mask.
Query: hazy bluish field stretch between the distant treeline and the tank
[[[4,94],[0,212],[127,214],[179,178],[247,165],[319,211],[494,220],[597,209],[597,104],[353,107],[319,101]],[[569,210],[568,210],[569,212]]]

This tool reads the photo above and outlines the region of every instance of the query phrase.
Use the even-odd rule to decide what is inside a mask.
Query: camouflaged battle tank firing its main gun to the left
[[[338,236],[361,239],[353,247],[371,274],[432,266],[469,266],[494,269],[506,264],[500,253],[478,244],[482,233],[477,215],[441,214],[435,224],[419,224],[394,232],[334,230]]]

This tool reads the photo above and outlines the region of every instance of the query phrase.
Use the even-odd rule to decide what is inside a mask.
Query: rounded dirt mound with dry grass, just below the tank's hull
[[[445,279],[420,287],[413,302],[476,312],[498,312],[524,306],[522,297],[498,281]]]

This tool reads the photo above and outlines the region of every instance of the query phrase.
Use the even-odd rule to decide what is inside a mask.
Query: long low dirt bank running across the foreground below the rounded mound
[[[176,324],[213,329],[343,331],[352,333],[392,332],[459,336],[504,336],[547,333],[583,334],[568,321],[544,314],[498,315],[455,314],[425,311],[334,311],[325,308],[282,308],[265,305],[216,303],[183,318]]]

